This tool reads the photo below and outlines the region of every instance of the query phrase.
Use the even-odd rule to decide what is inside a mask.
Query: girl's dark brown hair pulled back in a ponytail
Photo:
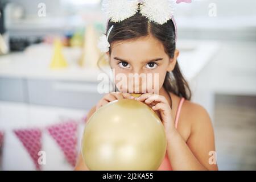
[[[156,24],[149,22],[148,19],[138,11],[135,15],[122,22],[114,23],[109,20],[106,31],[108,31],[112,25],[114,25],[114,27],[108,38],[110,45],[115,41],[137,39],[141,36],[151,34],[154,38],[162,42],[167,55],[169,55],[170,58],[174,57],[176,49],[175,26],[171,19],[162,25]],[[109,53],[111,54],[111,47]],[[167,72],[163,86],[167,91],[179,97],[184,97],[186,100],[191,100],[191,90],[180,71],[178,63],[176,63],[172,72]]]

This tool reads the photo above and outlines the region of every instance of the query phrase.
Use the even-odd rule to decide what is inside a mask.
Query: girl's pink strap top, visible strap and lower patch
[[[185,101],[185,98],[182,97],[180,99],[179,105],[177,107],[175,121],[174,121],[176,129],[177,129],[177,123],[178,123],[179,117],[180,117],[180,110],[181,110],[181,107],[182,107],[184,101]],[[160,165],[160,167],[158,168],[158,171],[171,171],[171,170],[172,170],[171,163],[170,163],[170,160],[168,158],[168,154],[166,152],[166,156],[164,156],[163,162]]]

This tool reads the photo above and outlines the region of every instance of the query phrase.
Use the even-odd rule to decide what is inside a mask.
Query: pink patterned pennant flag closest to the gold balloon
[[[75,167],[77,157],[77,122],[59,123],[48,127],[47,130],[64,152],[68,162]]]

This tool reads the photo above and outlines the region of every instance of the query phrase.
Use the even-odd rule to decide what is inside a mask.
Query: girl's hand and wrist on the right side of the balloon
[[[171,107],[164,96],[152,93],[145,93],[135,98],[135,100],[144,102],[154,111],[157,111],[159,113],[160,119],[162,120],[164,129],[166,131],[166,136],[175,129],[175,124],[171,115]]]

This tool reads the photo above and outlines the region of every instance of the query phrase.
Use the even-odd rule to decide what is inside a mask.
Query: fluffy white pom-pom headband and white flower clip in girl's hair
[[[139,7],[139,3],[141,6]],[[177,40],[177,28],[174,20],[175,1],[174,0],[103,0],[102,11],[108,16],[111,22],[118,23],[135,15],[140,9],[140,13],[150,22],[164,24],[172,19],[175,27],[175,42]],[[102,35],[98,42],[101,52],[108,52],[110,44],[108,37],[113,26],[109,28],[107,36]]]

